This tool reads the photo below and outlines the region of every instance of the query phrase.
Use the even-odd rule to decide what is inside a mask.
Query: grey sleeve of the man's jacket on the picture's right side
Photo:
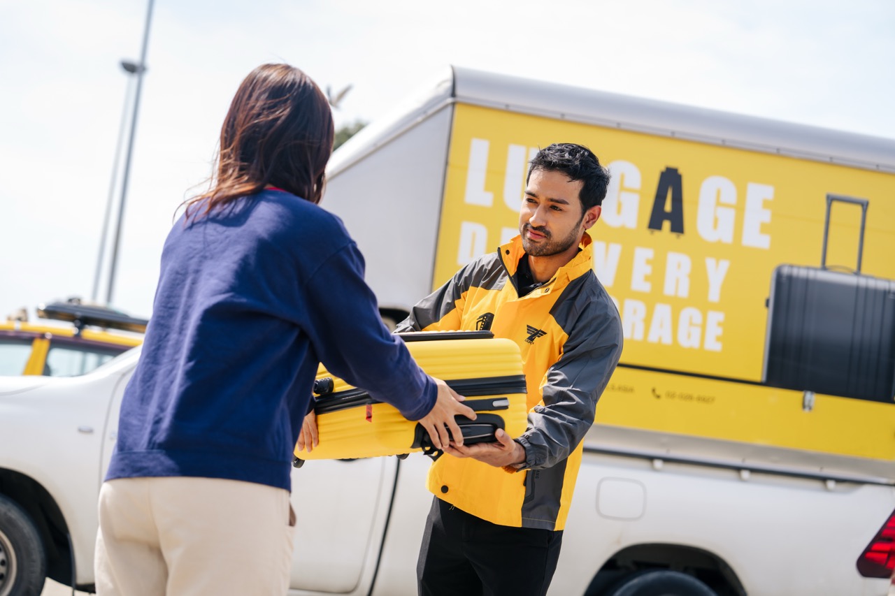
[[[578,447],[621,349],[621,321],[612,302],[607,298],[583,308],[562,355],[544,375],[543,405],[534,406],[528,429],[517,438],[525,447],[525,468],[549,468]]]

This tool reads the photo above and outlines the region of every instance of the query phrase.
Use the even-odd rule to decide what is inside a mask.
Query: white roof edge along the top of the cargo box
[[[891,139],[451,66],[345,143],[328,175],[453,103],[895,173]]]

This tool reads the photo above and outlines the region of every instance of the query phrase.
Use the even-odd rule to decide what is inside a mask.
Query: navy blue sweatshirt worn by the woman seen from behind
[[[181,217],[162,251],[106,479],[198,476],[289,490],[319,362],[409,420],[435,404],[434,381],[379,319],[361,253],[337,217],[272,190]]]

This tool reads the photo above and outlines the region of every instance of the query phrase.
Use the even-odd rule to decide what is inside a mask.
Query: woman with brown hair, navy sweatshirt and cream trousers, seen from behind
[[[292,452],[319,362],[439,447],[447,428],[462,441],[455,414],[474,418],[389,334],[360,252],[318,207],[332,144],[299,69],[264,64],[236,91],[209,192],[162,252],[100,491],[99,594],[286,592]]]

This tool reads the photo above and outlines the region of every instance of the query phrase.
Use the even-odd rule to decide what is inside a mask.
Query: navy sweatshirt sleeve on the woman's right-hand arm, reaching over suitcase
[[[419,420],[435,404],[438,387],[379,318],[363,269],[361,252],[349,243],[314,272],[313,290],[305,293],[311,342],[329,372]]]

